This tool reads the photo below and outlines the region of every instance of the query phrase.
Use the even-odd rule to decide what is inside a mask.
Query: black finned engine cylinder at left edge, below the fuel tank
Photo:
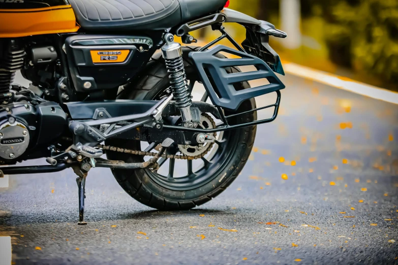
[[[2,45],[3,44],[3,45]],[[15,72],[23,67],[25,50],[16,40],[8,40],[0,43],[0,98],[9,98],[11,83],[14,81]]]

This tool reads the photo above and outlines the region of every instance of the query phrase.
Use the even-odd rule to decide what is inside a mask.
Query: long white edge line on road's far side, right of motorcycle
[[[364,84],[348,78],[342,78],[337,75],[312,68],[303,67],[292,62],[283,63],[283,68],[285,69],[286,73],[291,75],[316,81],[335,88],[344,89],[360,95],[376,98],[377,100],[398,104],[398,93],[387,89]]]

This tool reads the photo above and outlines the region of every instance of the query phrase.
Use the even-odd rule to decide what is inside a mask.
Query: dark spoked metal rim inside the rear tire
[[[191,81],[191,80],[190,80]],[[191,81],[190,84],[195,84]],[[190,85],[191,91],[193,85]],[[160,98],[167,95],[167,88],[162,89],[151,100],[160,100]],[[206,102],[208,99],[207,93],[200,98],[200,101]],[[145,169],[146,174],[159,185],[172,190],[189,190],[205,185],[219,176],[229,163],[233,153],[238,144],[238,137],[236,137],[237,130],[219,132],[216,137],[216,143],[209,152],[198,160],[178,160],[180,167],[175,167],[176,159],[161,158],[158,163],[160,165],[159,171],[152,172]],[[156,148],[156,145],[150,144],[145,151],[150,152]],[[141,150],[144,148],[141,148]],[[178,148],[173,147],[167,149],[167,154],[180,155]],[[175,171],[183,170],[183,164],[186,164],[187,174],[177,176]],[[199,167],[197,166],[198,164]],[[165,168],[166,167],[166,168]],[[166,174],[165,174],[166,173]],[[185,176],[184,176],[185,175]]]

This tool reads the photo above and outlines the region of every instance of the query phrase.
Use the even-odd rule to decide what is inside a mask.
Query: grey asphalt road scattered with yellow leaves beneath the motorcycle
[[[398,263],[398,106],[283,81],[280,115],[258,126],[246,168],[195,210],[154,211],[94,169],[88,225],[78,226],[72,170],[11,176],[0,189],[0,236],[12,236],[13,262]]]

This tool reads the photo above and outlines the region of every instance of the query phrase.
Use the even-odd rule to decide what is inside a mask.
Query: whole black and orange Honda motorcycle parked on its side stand
[[[0,175],[72,168],[79,224],[92,168],[109,168],[128,194],[159,210],[188,210],[223,192],[249,158],[256,125],[277,118],[285,86],[275,73],[284,71],[269,37],[287,37],[228,4],[0,1],[0,164],[12,165]],[[246,28],[241,45],[225,23]],[[204,47],[175,40],[196,43],[190,32],[207,26],[221,37]],[[223,39],[236,49],[215,45]],[[241,72],[246,65],[256,71]],[[29,87],[13,83],[18,71]],[[269,84],[250,87],[258,79]],[[254,98],[271,92],[276,102],[257,108]],[[257,119],[268,108],[272,117]],[[48,164],[17,165],[37,158]]]

